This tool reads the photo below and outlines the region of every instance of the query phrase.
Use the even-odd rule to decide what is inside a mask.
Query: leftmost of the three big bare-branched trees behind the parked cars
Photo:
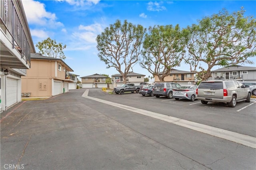
[[[97,49],[100,61],[107,64],[106,68],[114,67],[126,83],[126,75],[142,52],[142,39],[146,29],[142,25],[133,25],[124,20],[116,20],[97,36]]]

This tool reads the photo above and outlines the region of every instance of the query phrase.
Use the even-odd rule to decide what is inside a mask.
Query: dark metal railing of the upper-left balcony
[[[12,49],[16,48],[30,67],[30,45],[12,0],[0,0],[1,28],[10,34]]]

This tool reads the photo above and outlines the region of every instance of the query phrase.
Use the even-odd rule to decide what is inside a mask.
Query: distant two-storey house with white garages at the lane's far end
[[[106,84],[107,76],[100,74],[92,74],[90,76],[80,77],[82,79],[82,88],[104,88],[108,87]]]

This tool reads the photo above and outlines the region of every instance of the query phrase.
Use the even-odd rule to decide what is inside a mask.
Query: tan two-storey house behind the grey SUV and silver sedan
[[[160,72],[159,74],[162,74]],[[172,68],[170,74],[164,78],[164,82],[177,82],[180,85],[196,84],[194,80],[195,72],[182,71]],[[158,76],[155,76],[155,82],[160,82]]]

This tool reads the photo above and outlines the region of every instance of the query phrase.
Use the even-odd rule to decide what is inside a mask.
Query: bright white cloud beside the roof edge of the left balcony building
[[[63,26],[61,22],[56,21],[55,14],[46,11],[44,4],[34,0],[22,0],[22,4],[29,24]]]

